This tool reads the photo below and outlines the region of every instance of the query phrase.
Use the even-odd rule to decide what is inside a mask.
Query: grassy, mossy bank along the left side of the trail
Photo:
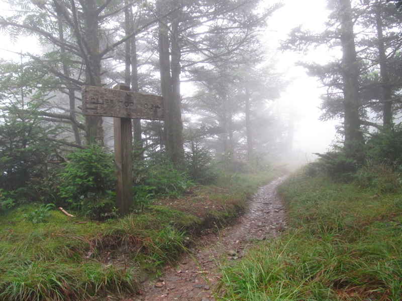
[[[193,186],[142,213],[103,222],[55,209],[38,217],[35,204],[8,210],[0,218],[0,300],[135,293],[143,277],[174,262],[199,230],[232,222],[256,188],[275,176],[222,175],[216,185]],[[29,218],[34,211],[40,222]]]

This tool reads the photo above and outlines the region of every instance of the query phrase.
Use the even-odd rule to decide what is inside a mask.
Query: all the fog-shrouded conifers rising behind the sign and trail
[[[167,160],[202,177],[195,162],[236,169],[294,154],[297,112],[274,108],[288,79],[276,71],[274,50],[262,42],[279,2],[4,3],[11,10],[0,17],[3,33],[11,41],[35,37],[41,51],[28,45],[20,61],[1,63],[3,189],[19,188],[11,175],[24,174],[21,187],[41,179],[88,144],[113,152],[112,120],[81,114],[83,85],[124,82],[132,91],[164,97],[163,122],[132,122],[138,161]],[[327,89],[321,119],[340,120],[339,146],[356,163],[366,159],[373,131],[398,122],[399,5],[330,0],[322,31],[298,27],[282,41],[283,51],[320,48],[328,54],[326,64],[300,65]],[[35,155],[39,146],[41,156]]]

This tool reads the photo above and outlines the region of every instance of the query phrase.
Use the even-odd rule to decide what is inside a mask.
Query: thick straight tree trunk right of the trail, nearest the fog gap
[[[353,13],[350,0],[339,0],[342,45],[342,77],[345,151],[347,156],[363,160],[364,137],[359,118],[359,66],[353,32]]]

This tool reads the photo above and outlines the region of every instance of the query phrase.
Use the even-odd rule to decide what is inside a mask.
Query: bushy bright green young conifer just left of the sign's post
[[[113,156],[104,147],[93,144],[68,157],[59,174],[60,196],[85,215],[97,218],[111,212],[116,176]]]

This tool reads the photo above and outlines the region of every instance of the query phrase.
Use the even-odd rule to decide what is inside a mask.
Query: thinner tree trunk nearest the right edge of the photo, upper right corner
[[[389,74],[386,62],[384,35],[382,32],[381,6],[379,4],[377,4],[375,7],[375,20],[377,27],[378,58],[379,58],[380,75],[381,75],[382,99],[380,100],[383,103],[382,122],[384,127],[390,127],[392,125],[392,91],[389,85]]]

